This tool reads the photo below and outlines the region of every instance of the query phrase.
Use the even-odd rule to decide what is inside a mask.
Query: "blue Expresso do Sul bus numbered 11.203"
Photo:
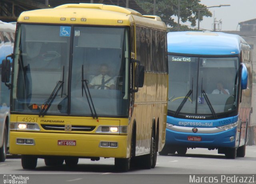
[[[188,148],[244,157],[252,99],[252,55],[238,35],[167,34],[169,92],[161,155]]]

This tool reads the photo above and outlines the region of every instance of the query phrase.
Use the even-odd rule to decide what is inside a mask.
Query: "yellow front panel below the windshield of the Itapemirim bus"
[[[32,154],[32,155],[60,155],[60,156],[80,156],[80,157],[116,157],[126,158],[129,154],[127,149],[127,134],[103,134],[96,133],[99,126],[128,126],[127,118],[98,118],[92,117],[62,117],[38,115],[13,115],[11,123],[26,123],[35,121],[40,127],[40,131],[10,131],[10,153],[11,154]],[[83,125],[96,126],[93,131],[54,131],[45,130],[44,125]],[[34,139],[35,145],[17,144],[17,138]],[[76,140],[76,146],[58,145],[58,140]],[[100,141],[118,142],[118,148],[100,147]]]

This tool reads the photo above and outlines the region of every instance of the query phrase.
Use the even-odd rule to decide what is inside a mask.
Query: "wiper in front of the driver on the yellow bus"
[[[84,85],[84,82],[85,82],[85,85]],[[94,108],[94,105],[93,105],[93,102],[92,102],[92,97],[91,97],[91,94],[90,94],[88,83],[89,83],[89,81],[84,79],[84,65],[82,65],[82,97],[84,96],[84,92],[85,92],[86,98],[87,98],[87,101],[88,101],[88,104],[89,104],[89,107],[90,107],[90,110],[91,110],[91,113],[92,113],[92,117],[93,117],[93,119],[94,118],[98,119],[98,115],[95,111],[95,108]],[[86,86],[86,88],[85,88],[85,86]],[[88,94],[87,94],[86,89],[88,91]],[[90,97],[90,100],[89,100],[89,97]],[[93,108],[94,112],[92,112],[92,108]]]

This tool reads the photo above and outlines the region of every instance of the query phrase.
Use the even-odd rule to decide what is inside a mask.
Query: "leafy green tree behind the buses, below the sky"
[[[178,24],[174,22],[171,16],[178,16],[178,1],[179,0],[156,0],[156,15],[173,28]],[[154,0],[136,0],[137,4],[143,8],[148,14],[154,13]],[[204,8],[200,4],[200,0],[180,0],[180,21],[191,22],[191,26],[196,26],[198,20],[198,8]],[[200,20],[203,17],[211,17],[212,13],[208,9],[200,11]]]

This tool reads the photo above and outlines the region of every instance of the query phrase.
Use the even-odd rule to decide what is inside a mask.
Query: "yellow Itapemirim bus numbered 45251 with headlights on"
[[[38,158],[72,167],[78,158],[100,157],[114,158],[120,171],[131,162],[154,168],[165,142],[166,45],[158,16],[127,8],[65,4],[23,12],[13,54],[10,153],[22,155],[24,169],[36,168]]]

